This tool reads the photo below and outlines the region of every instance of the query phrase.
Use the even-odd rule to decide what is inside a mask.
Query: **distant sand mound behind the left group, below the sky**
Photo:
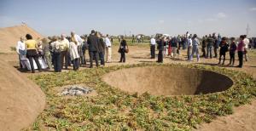
[[[16,47],[20,37],[25,37],[27,33],[35,39],[42,37],[37,31],[26,25],[0,28],[0,53],[10,53],[10,48]]]

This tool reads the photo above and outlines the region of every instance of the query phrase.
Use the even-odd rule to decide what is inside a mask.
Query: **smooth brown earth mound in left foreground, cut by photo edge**
[[[44,110],[45,95],[7,63],[0,59],[0,130],[20,130]]]

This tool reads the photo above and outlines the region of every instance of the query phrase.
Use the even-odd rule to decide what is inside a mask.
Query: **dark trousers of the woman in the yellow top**
[[[36,64],[38,65],[38,71],[42,70],[41,65],[40,65],[40,63],[38,61],[38,54],[37,54],[36,49],[28,49],[28,50],[26,50],[26,58],[29,60],[32,73],[35,72],[34,64],[33,64],[33,59],[35,60]]]

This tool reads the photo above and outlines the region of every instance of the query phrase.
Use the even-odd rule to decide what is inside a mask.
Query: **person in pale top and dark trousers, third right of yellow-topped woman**
[[[53,42],[51,43],[51,47],[53,49],[53,60],[55,72],[61,72],[61,43],[58,41],[58,37],[54,36],[52,38]]]

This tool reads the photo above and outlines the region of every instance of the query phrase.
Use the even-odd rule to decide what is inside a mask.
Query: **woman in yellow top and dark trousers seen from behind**
[[[32,73],[35,73],[33,60],[35,60],[36,64],[38,65],[38,71],[42,71],[41,65],[38,61],[38,44],[36,40],[32,39],[32,36],[30,34],[26,34],[26,58],[29,60],[29,63],[31,65]]]

